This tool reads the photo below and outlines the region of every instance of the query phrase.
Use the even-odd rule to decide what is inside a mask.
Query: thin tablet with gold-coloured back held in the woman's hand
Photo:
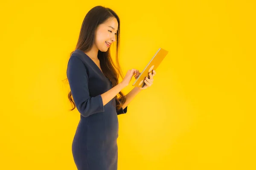
[[[163,48],[159,48],[156,54],[152,57],[152,59],[148,62],[148,65],[144,68],[144,70],[140,73],[139,77],[133,83],[133,86],[143,88],[146,84],[144,82],[145,78],[148,77],[148,73],[151,72],[153,74],[153,70],[156,70],[158,65],[163,61],[164,57],[168,54],[168,51]]]

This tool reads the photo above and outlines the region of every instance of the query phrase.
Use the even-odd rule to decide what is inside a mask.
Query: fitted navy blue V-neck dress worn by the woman
[[[72,143],[78,170],[117,170],[117,115],[127,112],[116,108],[116,99],[103,106],[100,94],[113,85],[83,51],[76,49],[67,64],[67,78],[79,124]]]

